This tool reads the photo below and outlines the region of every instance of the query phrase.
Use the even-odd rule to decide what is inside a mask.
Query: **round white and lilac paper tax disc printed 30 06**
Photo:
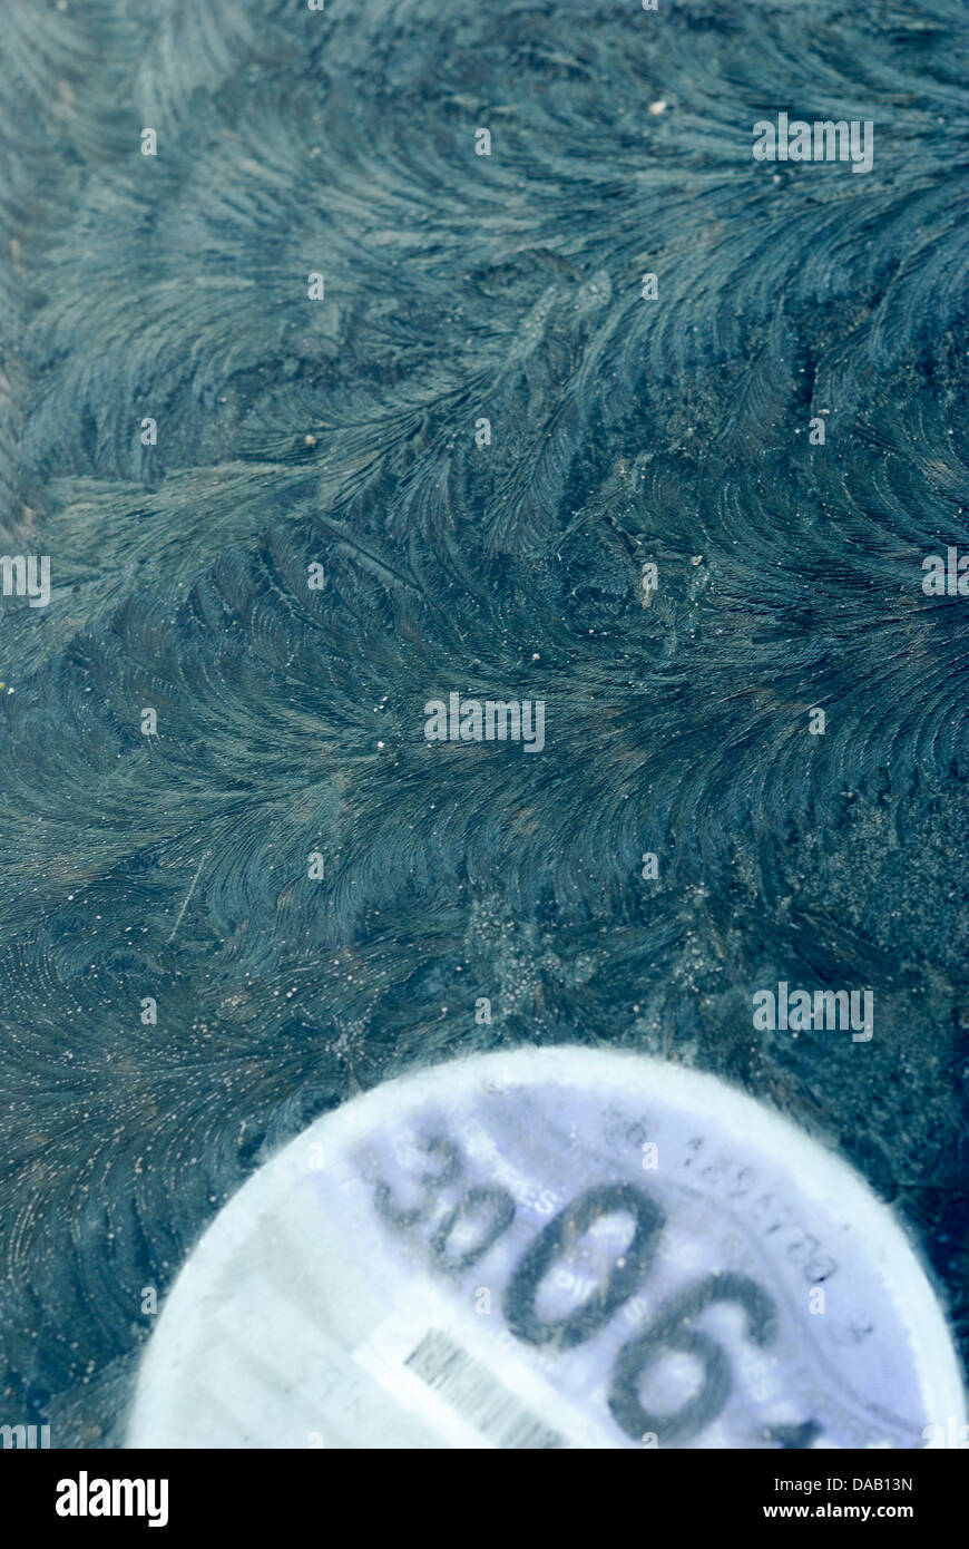
[[[715,1077],[556,1047],[389,1081],[255,1173],[166,1301],[128,1445],[918,1448],[964,1419],[850,1166]]]

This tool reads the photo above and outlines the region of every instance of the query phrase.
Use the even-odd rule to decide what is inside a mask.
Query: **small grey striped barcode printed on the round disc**
[[[404,1365],[495,1447],[568,1447],[441,1329],[429,1329]]]

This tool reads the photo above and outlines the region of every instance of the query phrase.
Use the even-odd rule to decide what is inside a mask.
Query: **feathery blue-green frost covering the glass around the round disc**
[[[830,1140],[964,1338],[963,6],[0,33],[0,522],[53,584],[0,604],[3,1413],[118,1444],[141,1287],[260,1160],[576,1036]],[[871,172],[758,164],[780,110],[873,121]],[[542,756],[429,745],[450,689],[545,699]],[[757,1033],[780,979],[876,1036]]]

